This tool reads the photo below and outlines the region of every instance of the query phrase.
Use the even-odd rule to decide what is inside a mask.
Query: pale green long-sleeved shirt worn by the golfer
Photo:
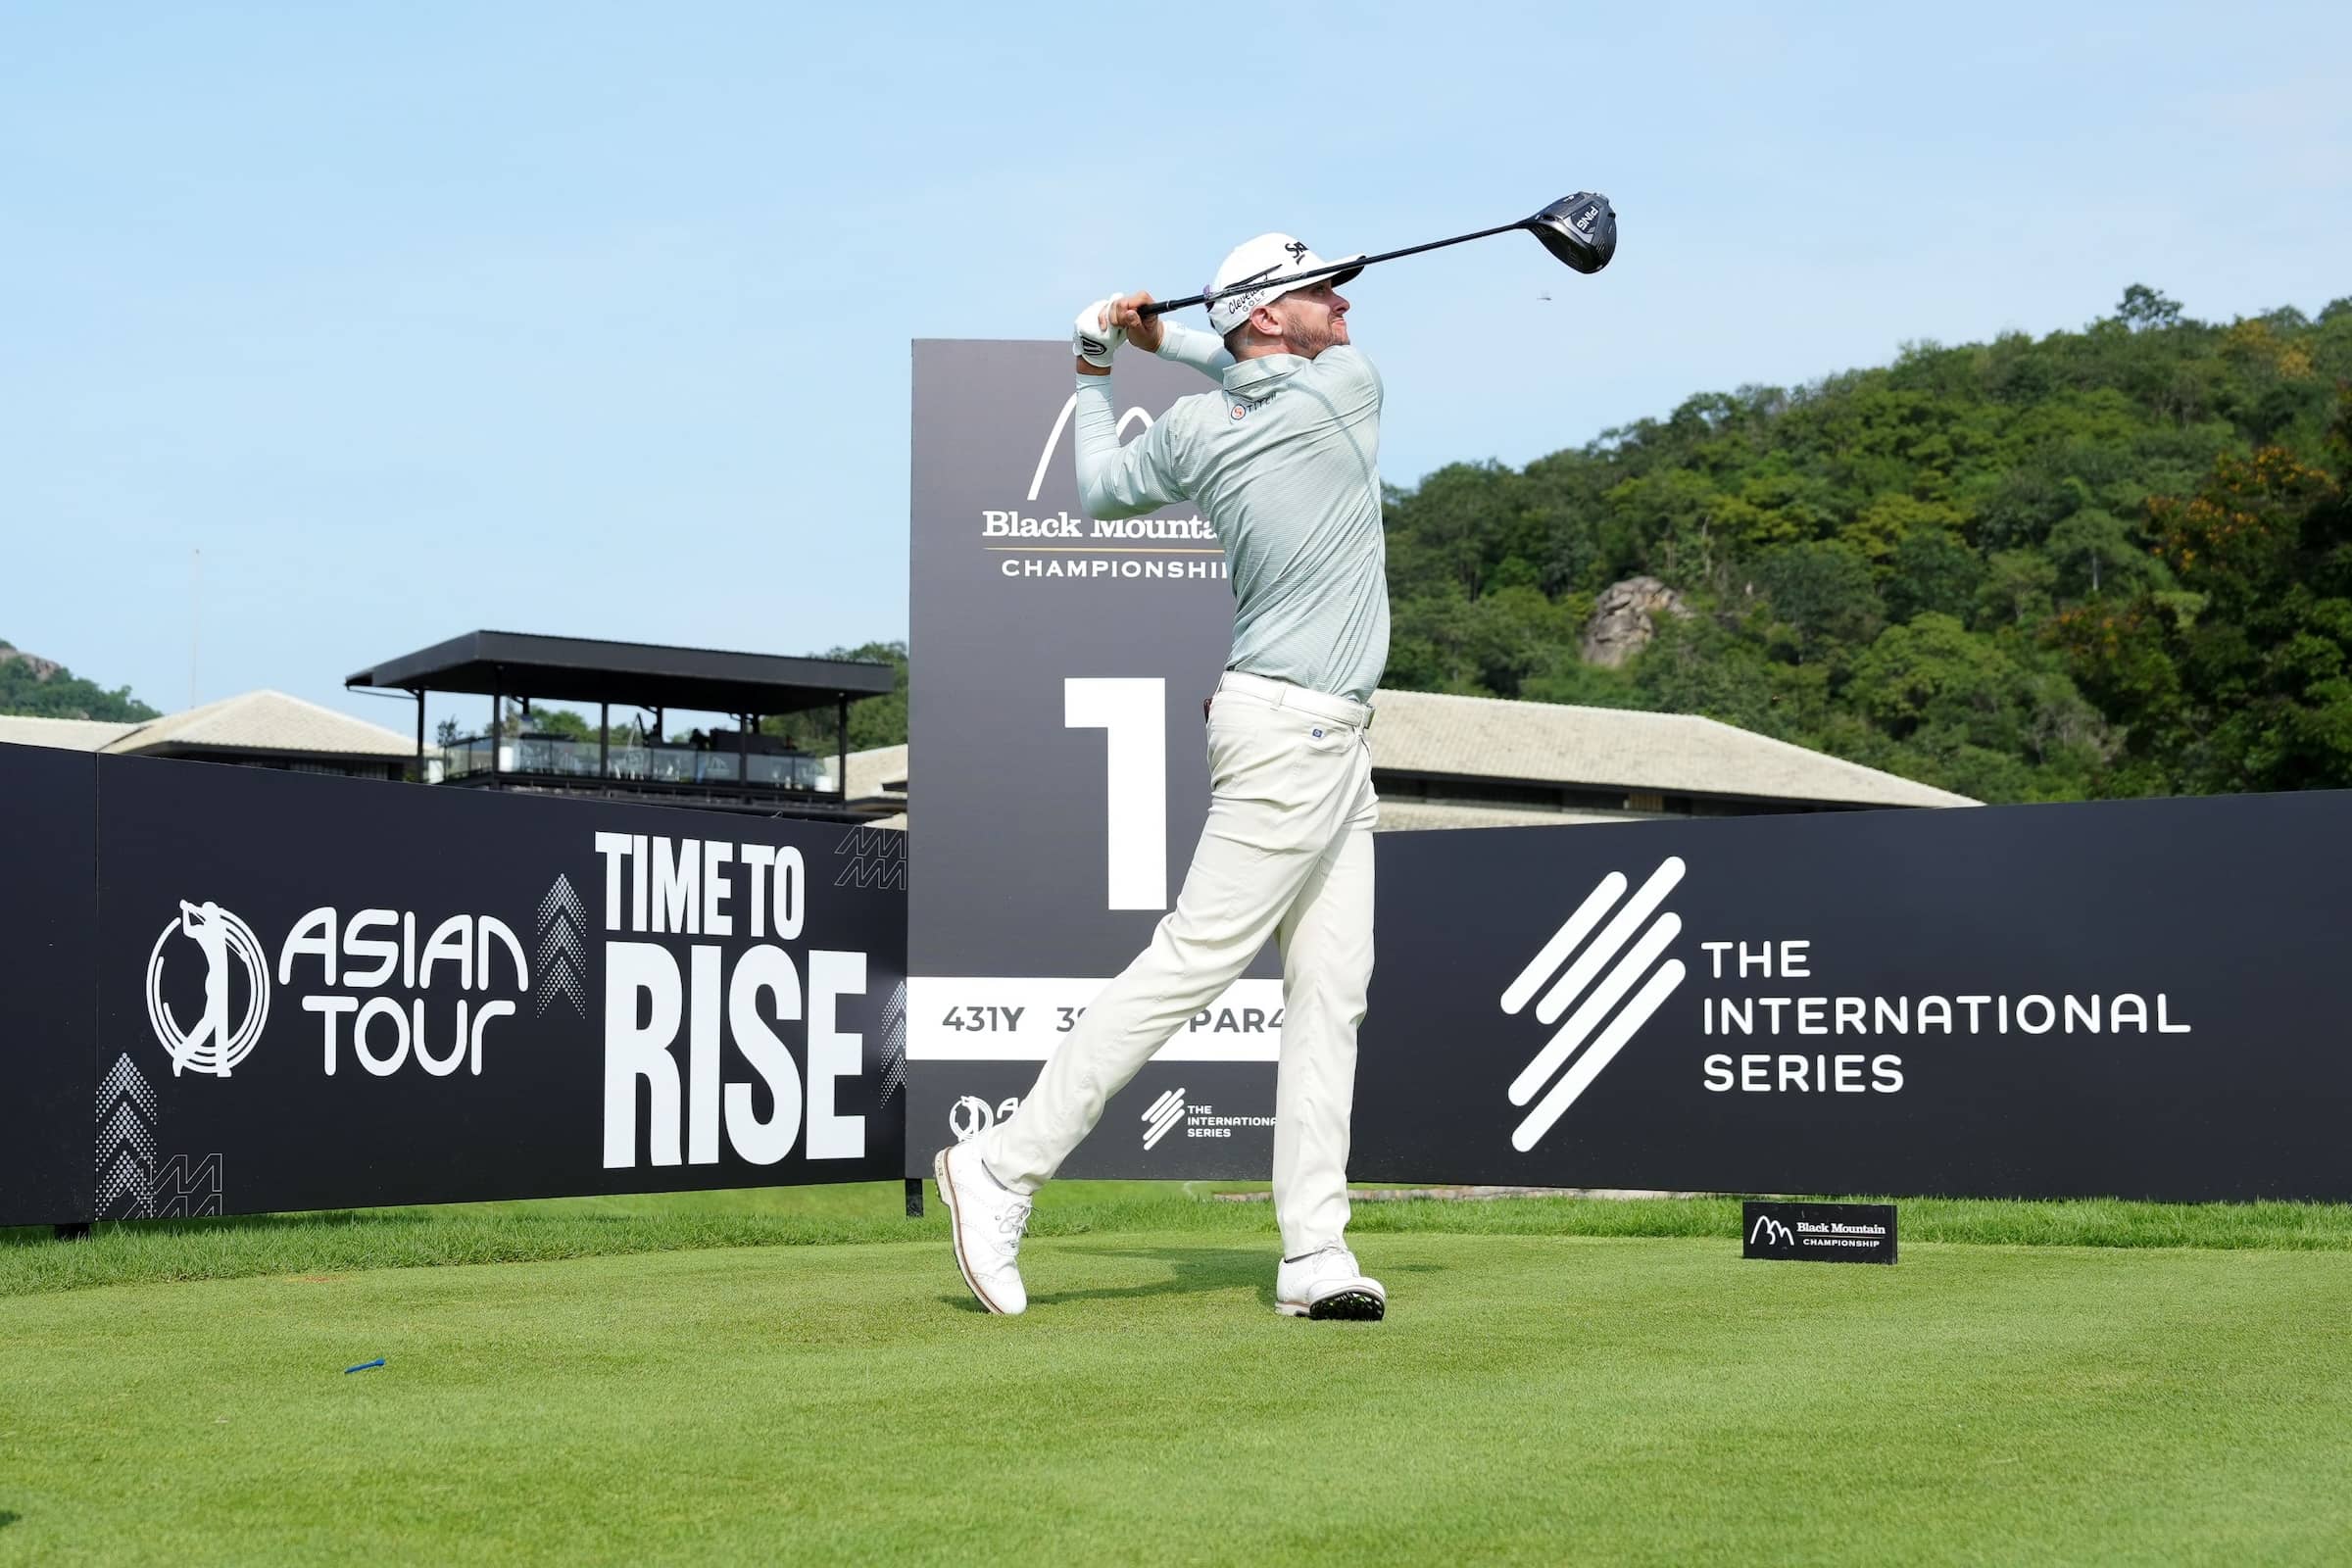
[[[1077,494],[1089,517],[1192,501],[1232,574],[1228,670],[1369,703],[1388,665],[1381,374],[1352,346],[1235,362],[1169,324],[1160,348],[1218,376],[1120,447],[1110,376],[1077,378]]]

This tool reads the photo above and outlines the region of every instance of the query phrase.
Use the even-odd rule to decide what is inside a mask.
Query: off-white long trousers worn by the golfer
[[[1348,1229],[1355,1030],[1371,985],[1371,710],[1228,672],[1209,705],[1209,823],[1150,947],[1087,1006],[981,1159],[1035,1192],[1152,1051],[1282,943],[1275,1218],[1282,1255]]]

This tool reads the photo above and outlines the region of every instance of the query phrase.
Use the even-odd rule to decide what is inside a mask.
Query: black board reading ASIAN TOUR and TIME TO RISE
[[[103,1215],[898,1173],[901,835],[113,757],[99,799],[96,1067],[155,1147]]]

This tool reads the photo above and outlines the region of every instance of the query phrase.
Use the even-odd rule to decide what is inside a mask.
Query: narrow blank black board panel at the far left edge
[[[0,1225],[87,1220],[96,757],[0,745]],[[115,1128],[139,1161],[141,1128]]]

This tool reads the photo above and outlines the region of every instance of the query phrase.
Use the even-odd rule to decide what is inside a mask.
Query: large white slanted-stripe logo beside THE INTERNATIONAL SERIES
[[[1576,1098],[1592,1086],[1592,1079],[1616,1060],[1625,1041],[1682,985],[1682,959],[1658,964],[1672,940],[1682,936],[1682,917],[1668,912],[1649,924],[1665,896],[1682,882],[1682,858],[1668,856],[1632,898],[1625,898],[1625,875],[1609,872],[1552,933],[1543,952],[1529,959],[1519,978],[1503,990],[1505,1013],[1517,1013],[1531,999],[1538,1023],[1557,1023],[1566,1013],[1566,1023],[1510,1081],[1512,1105],[1536,1103],[1510,1135],[1510,1147],[1522,1154],[1552,1131],[1559,1117],[1576,1105]],[[1566,964],[1564,971],[1562,964]],[[1536,992],[1543,992],[1541,999]],[[1630,999],[1628,992],[1632,992]],[[1618,1006],[1621,1001],[1623,1006]],[[1552,1074],[1559,1074],[1557,1081]],[[1536,1091],[1548,1081],[1552,1086],[1538,1100]]]

